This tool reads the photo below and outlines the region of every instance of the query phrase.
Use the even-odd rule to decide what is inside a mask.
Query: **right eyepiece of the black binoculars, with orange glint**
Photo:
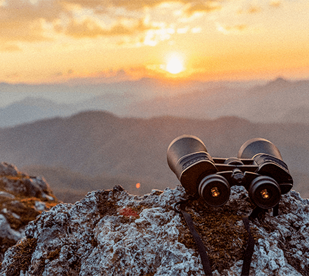
[[[281,190],[279,184],[271,177],[255,178],[248,189],[249,197],[260,208],[274,208],[280,201]]]

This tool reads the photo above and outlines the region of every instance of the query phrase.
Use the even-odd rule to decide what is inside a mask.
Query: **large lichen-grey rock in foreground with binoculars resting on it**
[[[26,237],[9,248],[0,274],[11,275],[204,275],[192,236],[172,206],[181,186],[139,197],[121,186],[88,193],[75,204],[43,211]],[[252,210],[243,187],[232,187],[217,209],[202,201],[187,207],[203,239],[213,275],[241,275]],[[251,222],[255,237],[250,275],[309,275],[309,200],[283,195],[279,216],[268,212]]]

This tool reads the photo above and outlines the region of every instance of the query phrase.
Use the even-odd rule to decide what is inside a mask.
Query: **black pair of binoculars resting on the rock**
[[[246,141],[237,158],[226,159],[212,158],[199,138],[182,135],[168,147],[168,166],[188,195],[199,195],[212,207],[226,204],[230,187],[237,185],[259,208],[274,208],[293,186],[278,148],[262,138]]]

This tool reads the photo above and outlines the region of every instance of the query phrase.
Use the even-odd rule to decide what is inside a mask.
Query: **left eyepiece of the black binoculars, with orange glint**
[[[223,206],[230,198],[230,184],[221,175],[208,175],[199,184],[199,195],[208,206]]]

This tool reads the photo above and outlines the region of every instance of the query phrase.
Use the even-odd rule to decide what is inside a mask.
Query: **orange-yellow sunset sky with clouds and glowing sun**
[[[0,82],[309,79],[308,0],[0,0]]]

